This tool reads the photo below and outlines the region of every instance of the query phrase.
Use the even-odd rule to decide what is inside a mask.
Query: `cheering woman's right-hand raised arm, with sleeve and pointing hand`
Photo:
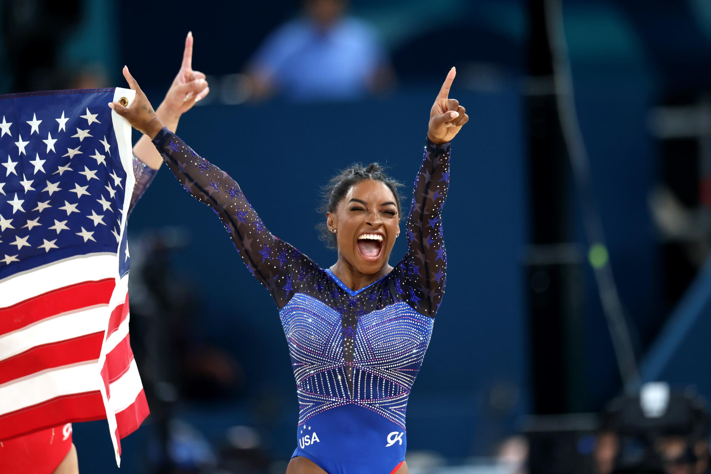
[[[447,283],[442,208],[449,188],[451,139],[469,120],[464,107],[449,99],[455,74],[456,70],[451,68],[429,114],[427,144],[407,217],[407,254],[394,270],[396,281],[407,286],[410,306],[431,317],[442,303]]]

